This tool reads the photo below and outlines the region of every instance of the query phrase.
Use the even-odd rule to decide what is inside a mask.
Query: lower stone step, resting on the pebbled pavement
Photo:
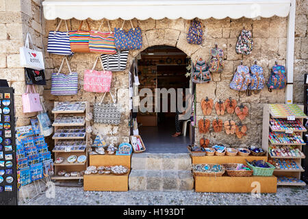
[[[194,188],[192,172],[187,170],[131,170],[129,190],[184,191]]]

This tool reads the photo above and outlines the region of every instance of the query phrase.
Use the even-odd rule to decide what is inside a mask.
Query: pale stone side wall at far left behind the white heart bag
[[[0,78],[7,79],[15,89],[17,126],[29,125],[36,113],[24,114],[21,95],[26,90],[24,69],[19,64],[19,47],[23,47],[27,32],[34,45],[42,49],[40,41],[40,0],[0,0]],[[37,92],[42,86],[35,86]]]

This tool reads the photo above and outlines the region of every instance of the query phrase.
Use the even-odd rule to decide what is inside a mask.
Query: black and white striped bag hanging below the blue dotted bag
[[[105,70],[121,71],[126,69],[127,57],[129,51],[118,51],[114,55],[101,55],[101,60],[103,60],[103,66]]]

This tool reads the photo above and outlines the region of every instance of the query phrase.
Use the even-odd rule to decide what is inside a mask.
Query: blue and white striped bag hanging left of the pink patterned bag
[[[66,60],[68,70],[70,73],[68,75],[60,73],[62,66]],[[62,64],[57,71],[57,73],[51,74],[51,94],[55,96],[64,96],[64,95],[75,95],[78,91],[78,74],[72,73],[70,70],[70,65],[66,57],[62,60]]]

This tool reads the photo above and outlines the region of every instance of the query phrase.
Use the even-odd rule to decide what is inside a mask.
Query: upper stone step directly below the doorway
[[[133,153],[133,170],[191,170],[192,159],[188,153]]]

